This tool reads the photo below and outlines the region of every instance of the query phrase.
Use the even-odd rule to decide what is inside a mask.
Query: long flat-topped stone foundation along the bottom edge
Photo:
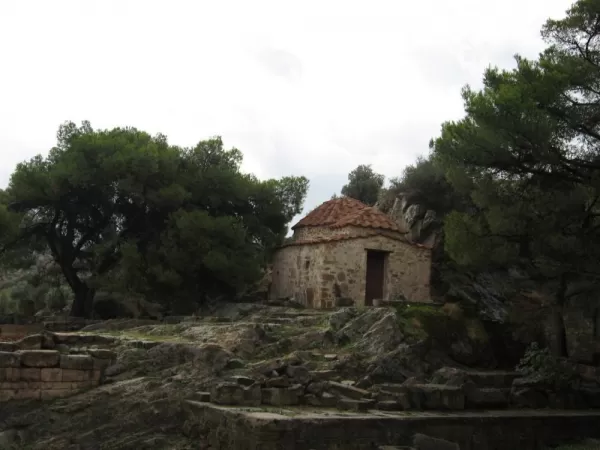
[[[215,450],[372,450],[409,446],[417,433],[455,442],[461,450],[541,450],[600,435],[598,411],[342,414],[194,401],[185,407],[188,425],[199,427]]]

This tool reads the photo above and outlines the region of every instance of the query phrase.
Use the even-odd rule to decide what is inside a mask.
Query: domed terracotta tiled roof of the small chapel
[[[396,222],[386,214],[350,197],[335,198],[323,203],[308,213],[292,229],[346,226],[402,232]]]

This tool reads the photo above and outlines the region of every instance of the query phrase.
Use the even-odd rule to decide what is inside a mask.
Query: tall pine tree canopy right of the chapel
[[[446,218],[463,264],[526,262],[564,304],[600,279],[600,3],[580,0],[542,30],[549,47],[463,89],[433,158],[472,204]]]

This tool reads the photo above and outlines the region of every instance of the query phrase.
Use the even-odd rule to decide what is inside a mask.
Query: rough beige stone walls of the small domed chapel
[[[310,230],[317,233],[321,229]],[[346,230],[357,237],[280,249],[273,260],[271,299],[293,298],[315,308],[331,308],[344,301],[364,305],[365,250],[370,249],[390,252],[384,300],[430,301],[431,250],[404,242],[400,236]]]

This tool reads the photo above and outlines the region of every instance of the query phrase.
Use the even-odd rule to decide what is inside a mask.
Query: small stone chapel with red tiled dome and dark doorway
[[[429,302],[431,249],[409,242],[386,214],[348,197],[323,203],[292,227],[273,259],[270,298],[307,307]]]

